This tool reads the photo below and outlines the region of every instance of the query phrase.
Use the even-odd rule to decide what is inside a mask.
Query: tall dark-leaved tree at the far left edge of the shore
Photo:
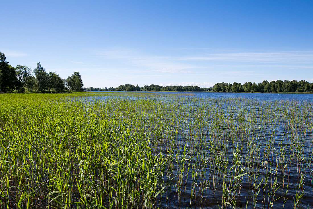
[[[15,68],[9,65],[4,53],[0,52],[0,92],[5,93],[19,87]]]

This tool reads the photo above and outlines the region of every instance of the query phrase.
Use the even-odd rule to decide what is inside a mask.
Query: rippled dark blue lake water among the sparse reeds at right
[[[231,182],[231,166],[234,147],[239,147],[243,173],[239,192],[235,191],[237,207],[245,208],[312,208],[313,206],[313,94],[266,94],[266,93],[213,93],[213,92],[99,92],[98,99],[117,97],[129,99],[161,100],[166,110],[171,103],[175,106],[175,114],[171,117],[158,115],[160,109],[152,110],[156,115],[154,123],[168,120],[177,122],[179,129],[174,137],[173,146],[178,158],[182,157],[183,147],[187,145],[193,170],[197,173],[196,180],[192,180],[191,171],[188,173],[188,163],[173,163],[174,172],[164,177],[171,185],[167,188],[161,202],[161,208],[219,208],[223,202],[223,181]],[[140,95],[141,93],[145,93]],[[102,94],[102,95],[101,95]],[[138,94],[138,95],[136,95]],[[156,95],[156,97],[150,95]],[[169,95],[175,95],[170,97]],[[198,98],[198,99],[197,99]],[[162,111],[162,110],[161,110]],[[166,113],[166,112],[165,112]],[[147,116],[148,118],[149,116]],[[201,118],[201,120],[199,120]],[[152,125],[152,124],[151,124]],[[171,123],[169,124],[171,125]],[[175,130],[176,127],[171,127]],[[150,134],[150,133],[149,133]],[[153,135],[151,135],[152,140]],[[165,141],[167,136],[161,137]],[[199,142],[200,145],[198,144]],[[192,148],[194,144],[198,147]],[[208,146],[209,145],[209,146]],[[168,144],[160,143],[154,147],[156,153],[168,151]],[[201,148],[200,148],[201,147]],[[211,148],[210,148],[211,147]],[[219,147],[217,149],[213,147]],[[252,150],[256,150],[251,152]],[[223,154],[219,153],[223,152]],[[200,154],[208,159],[203,170],[197,167],[198,160],[194,158]],[[226,156],[228,160],[225,176],[215,175],[217,163]],[[214,166],[214,169],[213,167]],[[182,174],[183,187],[177,194],[175,176]],[[274,170],[272,170],[274,169]],[[200,171],[201,170],[201,171]],[[201,173],[202,172],[202,173]],[[202,175],[200,175],[200,173]],[[217,177],[216,177],[217,176]],[[304,180],[301,180],[303,177]],[[171,180],[174,178],[174,180]],[[265,179],[268,180],[265,181]],[[260,184],[261,193],[253,197],[253,180]],[[278,184],[276,184],[276,183]],[[200,189],[194,189],[194,185]],[[213,186],[212,186],[213,185]],[[302,185],[302,187],[300,187]],[[207,187],[206,187],[207,186]],[[276,191],[273,188],[277,189]],[[198,187],[197,187],[198,188]],[[192,190],[197,193],[191,200]],[[199,191],[203,191],[202,193]],[[295,196],[302,195],[296,202]],[[273,203],[271,198],[275,198]],[[201,201],[200,201],[201,200]],[[224,208],[232,208],[223,205]]]

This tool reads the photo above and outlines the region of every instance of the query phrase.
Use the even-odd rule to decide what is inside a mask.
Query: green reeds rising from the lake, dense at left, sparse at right
[[[0,95],[1,208],[311,208],[308,101]]]

